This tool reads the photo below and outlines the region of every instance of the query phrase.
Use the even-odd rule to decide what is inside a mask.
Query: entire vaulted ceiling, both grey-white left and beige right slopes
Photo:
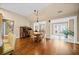
[[[2,3],[1,8],[28,17],[36,21],[34,10],[39,10],[39,19],[47,20],[68,16],[79,11],[78,3]]]

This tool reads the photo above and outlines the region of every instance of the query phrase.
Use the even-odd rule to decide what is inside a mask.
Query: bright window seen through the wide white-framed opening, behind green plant
[[[63,35],[63,30],[67,28],[67,22],[64,23],[54,23],[53,24],[53,34],[55,35]]]

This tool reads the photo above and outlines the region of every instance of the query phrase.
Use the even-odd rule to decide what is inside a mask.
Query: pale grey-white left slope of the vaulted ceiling
[[[48,3],[2,3],[1,7],[20,15],[27,16],[32,14],[35,9],[40,10],[48,5]]]

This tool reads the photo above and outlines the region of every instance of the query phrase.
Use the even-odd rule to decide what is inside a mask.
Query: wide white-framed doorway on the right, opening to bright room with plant
[[[64,30],[68,30],[65,37]],[[77,16],[54,19],[50,24],[51,38],[66,40],[66,42],[77,43]],[[73,34],[72,34],[73,33]]]

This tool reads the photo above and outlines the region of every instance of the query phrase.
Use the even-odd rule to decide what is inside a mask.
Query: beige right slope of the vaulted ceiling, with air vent
[[[40,19],[54,19],[66,16],[72,16],[79,13],[79,4],[77,3],[53,3],[40,13]]]

